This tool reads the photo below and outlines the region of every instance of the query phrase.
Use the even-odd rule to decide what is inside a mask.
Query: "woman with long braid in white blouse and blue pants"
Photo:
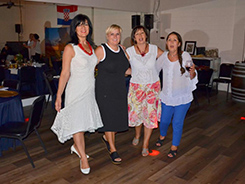
[[[181,50],[182,38],[176,32],[171,32],[166,38],[168,52],[158,59],[158,65],[163,70],[163,87],[160,93],[162,114],[160,121],[160,137],[156,146],[162,146],[168,126],[172,121],[173,140],[168,153],[169,158],[177,154],[177,148],[182,136],[186,113],[193,100],[192,91],[196,89],[197,76],[195,65],[189,73],[185,69],[187,60],[192,60],[187,52]]]

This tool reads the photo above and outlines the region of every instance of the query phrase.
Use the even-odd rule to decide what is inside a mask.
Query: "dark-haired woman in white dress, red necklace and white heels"
[[[94,132],[103,126],[95,100],[94,68],[97,57],[91,38],[92,24],[86,15],[79,14],[71,22],[71,43],[65,47],[62,58],[62,71],[55,102],[58,111],[52,131],[64,143],[73,137],[71,153],[75,152],[80,160],[83,174],[90,172],[85,153],[84,132]],[[61,109],[61,95],[65,93],[65,107]]]

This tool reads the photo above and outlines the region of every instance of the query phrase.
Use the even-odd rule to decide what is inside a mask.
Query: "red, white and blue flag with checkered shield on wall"
[[[72,19],[77,14],[77,6],[59,6],[57,5],[57,24],[70,25]]]

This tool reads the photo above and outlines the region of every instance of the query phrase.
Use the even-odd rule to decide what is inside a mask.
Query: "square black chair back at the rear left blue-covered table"
[[[21,83],[35,83],[36,82],[36,68],[32,66],[24,66],[20,69]]]

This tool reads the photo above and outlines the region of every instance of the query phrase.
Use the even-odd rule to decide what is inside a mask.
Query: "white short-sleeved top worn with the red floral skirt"
[[[149,44],[149,52],[144,57],[137,54],[134,46],[126,49],[132,69],[130,82],[137,84],[150,84],[159,80],[156,69],[157,46]]]

